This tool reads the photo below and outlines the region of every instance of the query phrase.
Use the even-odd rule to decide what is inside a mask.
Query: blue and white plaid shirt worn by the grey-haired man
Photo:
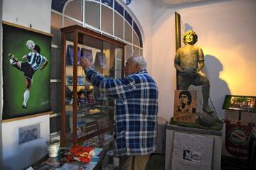
[[[124,155],[151,154],[156,149],[158,88],[146,70],[124,79],[105,79],[90,67],[85,69],[87,81],[107,96],[116,98],[116,137],[114,153]]]

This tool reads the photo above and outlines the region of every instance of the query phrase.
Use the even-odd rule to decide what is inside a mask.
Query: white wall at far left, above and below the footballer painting
[[[2,20],[16,23],[20,26],[32,26],[33,29],[50,33],[50,10],[51,0],[3,0],[0,5]],[[2,47],[2,35],[1,47]],[[0,54],[2,55],[0,47]],[[2,56],[0,56],[2,58]],[[2,84],[2,67],[0,62],[0,73]],[[1,89],[1,110],[2,118],[2,96]],[[40,123],[41,139],[18,145],[18,127]],[[24,169],[38,159],[46,155],[46,140],[49,135],[49,115],[44,115],[27,120],[17,120],[10,123],[0,122],[0,169]]]

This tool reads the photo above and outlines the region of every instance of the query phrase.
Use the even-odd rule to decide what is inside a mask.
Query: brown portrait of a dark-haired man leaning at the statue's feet
[[[176,90],[174,96],[174,121],[196,123],[197,91]]]

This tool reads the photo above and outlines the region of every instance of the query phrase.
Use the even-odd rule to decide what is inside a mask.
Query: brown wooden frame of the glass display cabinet
[[[100,33],[96,33],[92,30],[89,30],[87,28],[81,27],[81,26],[68,26],[66,28],[60,28],[61,30],[61,38],[62,38],[62,44],[61,44],[61,58],[62,58],[62,96],[61,96],[61,103],[62,103],[62,111],[61,111],[61,136],[60,136],[60,145],[61,146],[66,146],[67,143],[73,143],[73,145],[78,145],[78,142],[82,142],[84,140],[90,139],[91,137],[95,137],[97,135],[100,135],[103,132],[107,132],[110,130],[113,130],[114,125],[111,125],[107,128],[104,128],[102,130],[98,130],[97,132],[92,132],[89,135],[85,135],[82,137],[78,138],[77,135],[77,126],[78,126],[78,98],[77,98],[77,91],[78,91],[78,87],[77,87],[77,80],[78,80],[78,57],[75,54],[78,54],[78,43],[80,42],[79,40],[79,35],[87,35],[90,36],[92,38],[96,38],[98,40],[102,40],[102,42],[108,42],[111,45],[116,45],[117,47],[119,47],[120,49],[122,49],[122,68],[124,67],[124,43],[120,42],[118,40],[114,40],[106,35],[102,35]],[[67,41],[67,35],[69,33],[73,33],[73,129],[71,130],[71,132],[73,133],[73,139],[71,139],[72,141],[68,141],[67,137],[66,137],[66,119],[67,119],[67,115],[66,115],[66,111],[65,111],[65,79],[66,79],[66,63],[65,63],[65,57],[66,57],[66,51],[67,51],[67,45],[66,45],[66,41]],[[124,72],[122,72],[122,77],[124,77]]]

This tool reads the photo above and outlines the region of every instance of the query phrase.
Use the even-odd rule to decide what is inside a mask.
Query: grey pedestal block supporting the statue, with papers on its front
[[[222,130],[166,126],[165,169],[221,169]]]

